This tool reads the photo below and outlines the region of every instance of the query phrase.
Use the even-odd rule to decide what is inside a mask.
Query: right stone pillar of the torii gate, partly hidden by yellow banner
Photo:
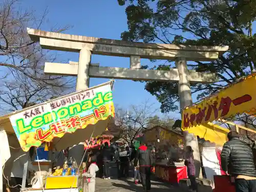
[[[180,98],[180,109],[181,111],[185,109],[186,106],[193,104],[191,91],[190,91],[190,83],[189,83],[189,74],[187,70],[187,61],[184,57],[176,58],[175,61],[176,68],[179,72],[180,80],[178,82],[178,91]],[[181,113],[182,114],[182,113]],[[196,177],[202,178],[202,170],[201,170],[201,159],[200,152],[198,147],[198,140],[193,134],[189,134],[187,131],[183,132],[185,137],[185,145],[191,146],[194,150],[194,158],[196,165]]]

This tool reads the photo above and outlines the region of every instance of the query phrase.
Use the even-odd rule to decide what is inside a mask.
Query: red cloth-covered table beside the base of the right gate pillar
[[[156,177],[164,181],[179,183],[181,179],[187,178],[187,167],[156,164],[155,174]]]

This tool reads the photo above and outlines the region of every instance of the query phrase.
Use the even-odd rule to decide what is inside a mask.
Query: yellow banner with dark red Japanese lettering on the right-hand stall
[[[183,110],[182,130],[254,110],[256,106],[255,78],[256,74],[247,76],[240,82],[223,89],[217,95]],[[250,113],[250,115],[254,114]]]

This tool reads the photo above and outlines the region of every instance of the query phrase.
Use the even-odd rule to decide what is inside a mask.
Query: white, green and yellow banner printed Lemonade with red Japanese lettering
[[[111,83],[42,103],[10,116],[13,130],[25,152],[54,137],[86,129],[99,120],[114,117]]]

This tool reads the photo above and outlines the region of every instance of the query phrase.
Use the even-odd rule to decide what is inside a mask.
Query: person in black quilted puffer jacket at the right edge
[[[250,146],[239,139],[237,132],[227,134],[221,152],[221,167],[235,178],[237,192],[256,191],[256,169]]]

